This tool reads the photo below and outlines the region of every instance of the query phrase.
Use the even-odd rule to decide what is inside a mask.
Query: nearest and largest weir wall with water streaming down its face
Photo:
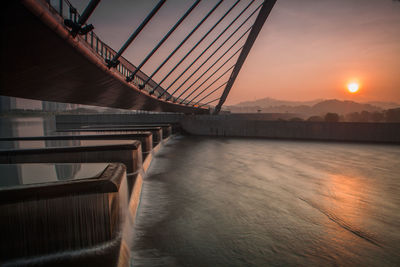
[[[24,165],[32,164],[8,167]],[[103,165],[99,176],[0,187],[2,266],[117,266],[121,245],[130,239],[123,234],[126,171],[123,164]]]

